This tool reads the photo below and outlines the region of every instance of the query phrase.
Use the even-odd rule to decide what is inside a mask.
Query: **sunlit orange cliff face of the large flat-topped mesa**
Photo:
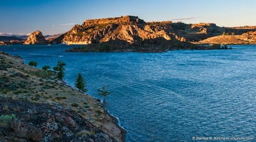
[[[86,20],[81,26],[76,25],[68,31],[61,41],[67,44],[91,44],[126,40],[130,44],[140,44],[143,40],[153,38],[178,38],[172,33],[170,23],[158,24],[156,27],[153,24],[155,23],[145,23],[137,16]]]

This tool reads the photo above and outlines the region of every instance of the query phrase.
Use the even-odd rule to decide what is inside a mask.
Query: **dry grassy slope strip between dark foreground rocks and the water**
[[[106,133],[121,139],[120,129],[116,128],[112,119],[95,99],[69,87],[62,80],[57,80],[51,71],[29,67],[21,58],[14,58],[1,51],[0,95],[71,108]],[[111,128],[108,128],[107,124],[111,125]]]

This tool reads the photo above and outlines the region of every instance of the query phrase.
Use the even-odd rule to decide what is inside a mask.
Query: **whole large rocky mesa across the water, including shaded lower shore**
[[[225,28],[215,23],[145,22],[138,16],[121,16],[86,20],[52,42],[88,44],[88,51],[100,51],[102,47],[110,46],[110,51],[162,52],[165,49],[188,49],[196,46],[191,42],[222,35],[223,32],[238,35],[248,31],[252,29]]]

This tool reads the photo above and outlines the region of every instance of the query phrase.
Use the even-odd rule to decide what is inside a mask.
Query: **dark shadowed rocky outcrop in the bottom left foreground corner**
[[[0,141],[116,141],[71,109],[3,97],[0,102],[1,115],[16,115],[0,125]]]

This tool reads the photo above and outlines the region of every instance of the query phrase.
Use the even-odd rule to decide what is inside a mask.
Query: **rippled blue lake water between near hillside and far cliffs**
[[[126,141],[256,138],[256,45],[232,47],[168,53],[65,53],[71,48],[66,45],[0,50],[39,67],[62,60],[64,80],[74,86],[81,72],[88,94],[99,99],[96,89],[109,84],[113,93],[105,107],[128,131]]]

